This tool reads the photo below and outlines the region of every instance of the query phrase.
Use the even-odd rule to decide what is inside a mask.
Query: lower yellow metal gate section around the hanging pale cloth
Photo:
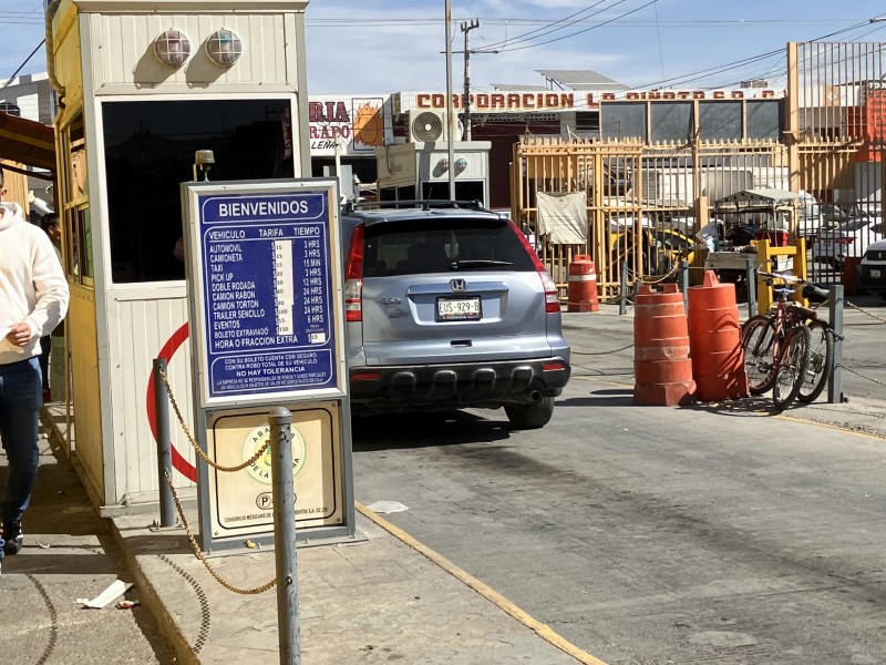
[[[604,298],[617,291],[622,262],[631,282],[673,278],[681,260],[700,279],[707,249],[696,234],[711,218],[712,202],[744,188],[786,187],[786,147],[773,142],[687,146],[528,137],[515,146],[514,218],[538,238],[564,297],[576,254],[590,254]],[[538,193],[586,197],[584,243],[547,242]]]

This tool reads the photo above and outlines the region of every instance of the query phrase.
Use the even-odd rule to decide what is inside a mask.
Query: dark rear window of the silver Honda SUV
[[[363,245],[363,277],[536,270],[521,238],[504,219],[425,218],[368,224]]]

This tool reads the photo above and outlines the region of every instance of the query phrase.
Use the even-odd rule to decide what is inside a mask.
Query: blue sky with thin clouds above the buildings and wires
[[[42,4],[0,0],[0,79],[43,38]],[[444,7],[444,0],[312,0],[309,92],[445,89]],[[471,58],[477,90],[544,84],[539,69],[589,69],[632,88],[692,89],[776,81],[789,41],[831,33],[833,41],[886,41],[886,21],[868,22],[882,16],[886,3],[874,0],[453,0],[453,85],[463,84],[461,24],[474,19],[471,49],[497,51]],[[42,71],[41,49],[21,73]]]

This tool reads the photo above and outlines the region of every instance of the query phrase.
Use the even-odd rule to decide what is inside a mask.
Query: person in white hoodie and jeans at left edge
[[[3,203],[6,192],[0,168],[0,441],[9,463],[0,500],[0,560],[22,546],[21,519],[40,454],[40,338],[62,320],[69,298],[52,242],[24,219],[18,203]]]

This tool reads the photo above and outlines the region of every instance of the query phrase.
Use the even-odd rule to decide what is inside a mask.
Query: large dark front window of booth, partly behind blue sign
[[[104,102],[113,282],[184,278],[173,250],[197,150],[213,151],[213,181],[292,177],[289,109],[289,99]]]

